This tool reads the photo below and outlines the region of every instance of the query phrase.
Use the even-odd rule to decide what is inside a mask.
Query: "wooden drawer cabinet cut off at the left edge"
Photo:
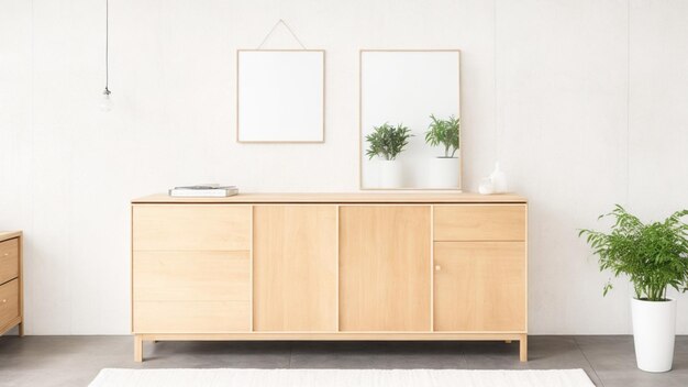
[[[24,335],[22,233],[0,231],[0,334],[19,325]]]

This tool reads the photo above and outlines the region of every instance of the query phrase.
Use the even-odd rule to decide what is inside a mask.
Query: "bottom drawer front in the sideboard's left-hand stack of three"
[[[134,333],[251,330],[251,301],[134,301]]]

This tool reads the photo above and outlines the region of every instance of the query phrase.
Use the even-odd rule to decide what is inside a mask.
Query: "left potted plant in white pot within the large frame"
[[[373,133],[366,135],[368,159],[379,158],[379,178],[382,188],[400,188],[403,185],[403,170],[397,156],[409,144],[411,131],[398,124],[392,126],[384,123],[373,128]]]

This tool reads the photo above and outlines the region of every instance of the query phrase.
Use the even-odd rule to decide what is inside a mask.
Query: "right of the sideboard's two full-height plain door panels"
[[[340,208],[340,330],[430,331],[430,207]]]

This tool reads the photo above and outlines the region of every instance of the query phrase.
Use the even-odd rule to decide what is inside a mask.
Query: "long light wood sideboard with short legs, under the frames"
[[[528,357],[515,195],[132,201],[134,358],[163,340],[499,340]]]

